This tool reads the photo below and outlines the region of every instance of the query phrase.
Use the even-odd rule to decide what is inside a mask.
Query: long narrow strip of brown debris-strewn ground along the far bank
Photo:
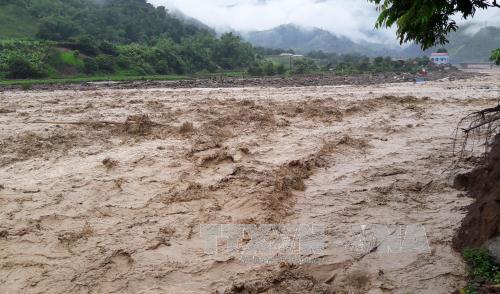
[[[425,77],[428,81],[461,80],[478,73],[463,72],[455,69],[435,69]],[[152,88],[240,88],[240,87],[304,87],[304,86],[334,86],[334,85],[376,85],[382,83],[414,82],[419,77],[410,73],[375,73],[350,76],[341,75],[304,75],[293,77],[266,78],[226,78],[188,79],[182,81],[126,81],[126,82],[94,82],[81,84],[35,84],[32,90],[79,90],[90,91],[98,89],[152,89]],[[22,86],[0,86],[0,91],[23,90]]]

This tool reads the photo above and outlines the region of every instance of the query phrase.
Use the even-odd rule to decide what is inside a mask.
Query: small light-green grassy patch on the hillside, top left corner
[[[26,10],[0,5],[0,39],[32,38],[36,32],[37,22]]]

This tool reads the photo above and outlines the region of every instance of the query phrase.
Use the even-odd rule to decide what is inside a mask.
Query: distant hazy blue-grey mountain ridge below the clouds
[[[303,28],[294,24],[280,25],[265,31],[242,33],[243,38],[255,46],[273,49],[293,49],[307,53],[321,50],[338,54],[362,54],[367,56],[388,55],[411,58],[429,55],[439,48],[447,48],[452,62],[487,62],[490,52],[500,48],[500,27],[483,27],[471,34],[469,26],[463,26],[449,36],[450,43],[422,51],[419,45],[393,48],[384,44],[355,42],[339,37],[320,28]]]

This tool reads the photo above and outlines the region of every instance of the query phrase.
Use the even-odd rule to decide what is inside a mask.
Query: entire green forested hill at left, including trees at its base
[[[0,79],[245,70],[255,57],[146,0],[0,0]]]

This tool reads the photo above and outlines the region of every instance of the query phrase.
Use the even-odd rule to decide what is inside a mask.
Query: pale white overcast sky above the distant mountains
[[[266,30],[294,23],[319,27],[355,40],[396,44],[394,29],[374,31],[375,6],[366,0],[148,0],[177,8],[217,31]],[[474,19],[500,25],[500,9],[480,12]]]

